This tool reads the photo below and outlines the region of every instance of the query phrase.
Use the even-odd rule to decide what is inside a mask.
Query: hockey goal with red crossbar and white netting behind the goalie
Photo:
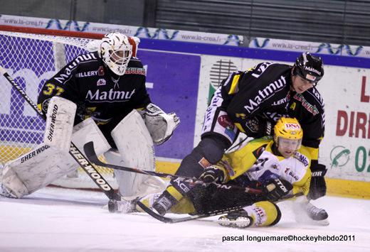
[[[4,28],[8,31],[4,31]],[[14,78],[28,96],[37,102],[38,92],[67,62],[82,53],[93,39],[78,38],[81,35],[102,38],[102,35],[44,29],[0,26],[0,65]],[[37,33],[38,32],[38,33]],[[6,79],[0,77],[0,162],[6,163],[27,153],[43,141],[45,121],[27,104]],[[112,187],[117,189],[113,172],[98,168]],[[53,183],[54,184],[54,183]],[[55,185],[73,188],[97,188],[82,169],[63,177]]]

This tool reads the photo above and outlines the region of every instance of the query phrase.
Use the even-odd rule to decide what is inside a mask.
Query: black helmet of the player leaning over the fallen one
[[[293,75],[300,75],[305,80],[317,83],[324,76],[321,57],[316,57],[310,53],[302,53],[295,60]]]

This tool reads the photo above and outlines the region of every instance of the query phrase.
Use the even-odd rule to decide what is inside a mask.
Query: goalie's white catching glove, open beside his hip
[[[159,106],[152,103],[145,108],[144,121],[157,146],[169,140],[180,124],[179,116],[175,113],[166,114]]]

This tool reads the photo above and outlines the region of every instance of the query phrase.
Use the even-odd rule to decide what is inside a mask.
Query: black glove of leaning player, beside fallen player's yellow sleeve
[[[327,183],[325,182],[324,175],[327,173],[327,168],[325,165],[319,163],[311,164],[311,184],[310,192],[308,192],[308,199],[318,199],[323,197],[327,193]]]

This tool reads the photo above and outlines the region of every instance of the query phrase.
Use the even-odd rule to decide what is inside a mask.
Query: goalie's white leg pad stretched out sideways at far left
[[[5,164],[1,184],[21,198],[46,187],[75,167],[76,162],[68,152],[42,143],[35,150]]]

